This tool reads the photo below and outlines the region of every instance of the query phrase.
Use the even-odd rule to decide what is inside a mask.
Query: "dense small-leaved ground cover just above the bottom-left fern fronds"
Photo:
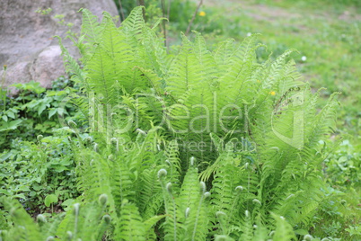
[[[60,129],[54,136],[39,136],[37,144],[13,140],[12,149],[0,156],[0,192],[19,198],[31,214],[47,210],[44,201],[49,194],[56,194],[59,201],[77,197],[68,134]]]

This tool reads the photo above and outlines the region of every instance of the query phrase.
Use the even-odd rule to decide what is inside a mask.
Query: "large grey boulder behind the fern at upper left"
[[[48,14],[36,13],[49,8]],[[64,39],[69,30],[67,22],[74,23],[72,31],[79,32],[80,8],[88,8],[99,17],[103,11],[118,14],[112,0],[0,0],[0,76],[6,65],[5,86],[35,80],[50,87],[52,80],[65,75],[61,50],[53,36]],[[72,46],[70,40],[64,44]],[[75,48],[70,50],[76,55]]]

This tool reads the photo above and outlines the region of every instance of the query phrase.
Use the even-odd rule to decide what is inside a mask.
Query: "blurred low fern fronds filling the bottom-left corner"
[[[48,220],[40,214],[37,222],[31,219],[19,202],[6,198],[0,201],[14,226],[0,233],[2,240],[54,240],[56,237],[63,240],[101,240],[110,226],[110,216],[105,213],[106,201],[93,201],[86,205],[75,203],[65,218],[62,215]]]

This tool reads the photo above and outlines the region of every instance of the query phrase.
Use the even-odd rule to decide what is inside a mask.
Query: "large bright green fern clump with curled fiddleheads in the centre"
[[[76,237],[297,240],[294,229],[310,229],[324,185],[318,143],[338,103],[331,95],[318,112],[319,94],[301,81],[294,50],[260,63],[257,34],[210,51],[195,32],[168,53],[141,7],[119,28],[109,13],[102,22],[82,13],[73,39],[81,64],[59,40],[66,70],[82,86],[69,97],[90,135],[69,121],[80,140],[72,144],[77,201],[94,205],[101,196],[107,205],[76,220],[67,213],[57,234],[89,229],[90,219],[93,234]]]

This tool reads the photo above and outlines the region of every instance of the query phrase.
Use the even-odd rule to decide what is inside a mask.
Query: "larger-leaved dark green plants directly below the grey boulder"
[[[59,116],[74,116],[73,106],[68,103],[62,105],[66,95],[75,92],[75,88],[66,87],[68,82],[65,77],[59,77],[50,90],[34,81],[13,85],[19,93],[16,96],[5,96],[4,103],[0,103],[0,148],[10,147],[8,139],[33,141],[40,134],[49,135],[52,129],[61,127]]]

